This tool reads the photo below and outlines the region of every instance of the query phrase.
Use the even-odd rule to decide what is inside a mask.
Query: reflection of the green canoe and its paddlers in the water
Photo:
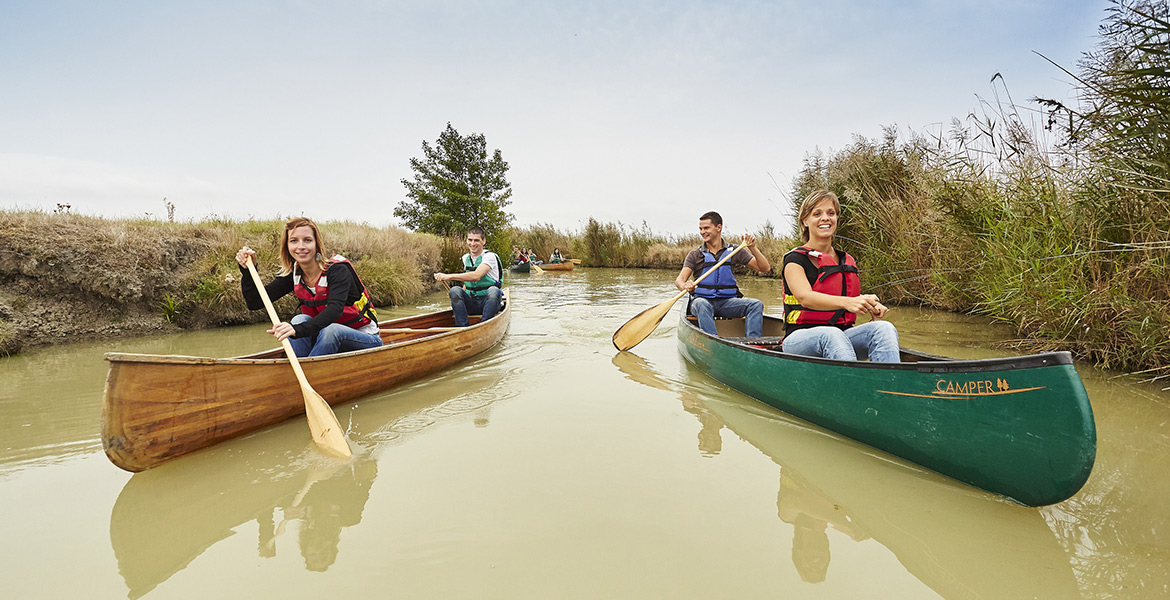
[[[704,455],[718,454],[713,440],[725,427],[779,467],[777,516],[792,526],[791,558],[805,581],[833,577],[832,527],[881,544],[943,598],[1080,596],[1068,554],[1038,509],[785,415],[684,361],[674,379],[631,352],[613,364],[633,381],[677,394],[700,421]]]

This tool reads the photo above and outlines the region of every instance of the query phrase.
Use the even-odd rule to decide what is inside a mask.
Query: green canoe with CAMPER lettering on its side
[[[779,351],[743,319],[710,336],[686,316],[683,357],[715,379],[789,414],[1028,506],[1081,489],[1096,426],[1068,352],[956,360],[902,349],[902,363],[828,360]]]

